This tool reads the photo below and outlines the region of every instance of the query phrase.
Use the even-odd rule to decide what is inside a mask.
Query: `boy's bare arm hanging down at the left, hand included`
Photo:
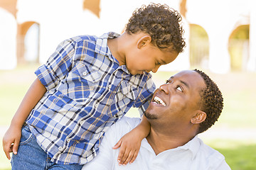
[[[18,144],[21,140],[21,128],[31,110],[36,106],[38,101],[46,93],[46,87],[41,84],[39,79],[36,79],[28,92],[21,101],[14,118],[11,120],[11,125],[3,137],[3,148],[8,159],[11,159],[10,152],[17,154]]]

